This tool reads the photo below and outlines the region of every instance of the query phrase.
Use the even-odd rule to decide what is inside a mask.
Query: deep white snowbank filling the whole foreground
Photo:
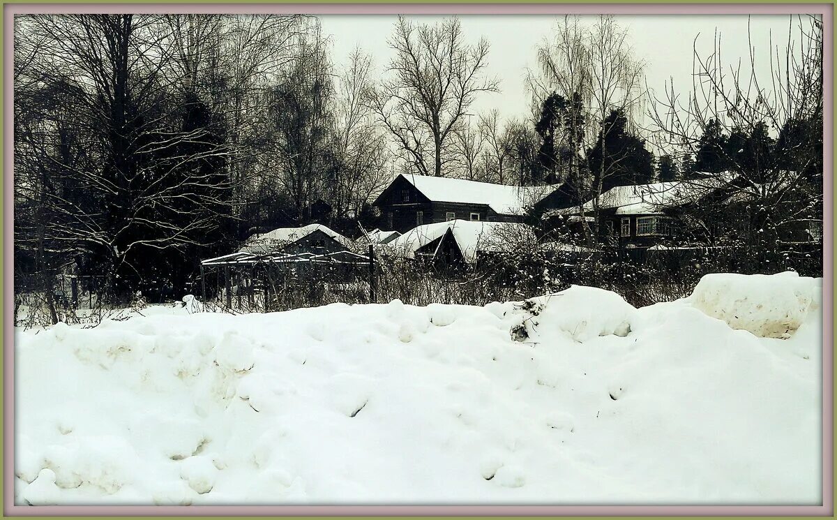
[[[821,284],[18,330],[15,502],[820,503]]]

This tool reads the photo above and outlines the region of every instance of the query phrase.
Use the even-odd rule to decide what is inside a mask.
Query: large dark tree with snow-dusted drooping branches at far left
[[[39,114],[16,133],[16,152],[31,160],[18,194],[35,209],[16,229],[19,247],[57,262],[94,259],[119,287],[148,267],[149,255],[207,245],[229,193],[218,177],[227,149],[205,107],[179,110],[183,99],[163,74],[172,49],[161,18],[22,22],[22,39],[42,52],[18,75],[21,113]]]

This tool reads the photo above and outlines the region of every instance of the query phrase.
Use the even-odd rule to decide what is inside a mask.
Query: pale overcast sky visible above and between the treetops
[[[444,17],[414,16],[410,19],[431,23]],[[527,67],[536,66],[535,49],[550,33],[557,18],[541,15],[463,15],[459,17],[466,37],[474,43],[485,36],[491,48],[487,73],[501,80],[500,94],[483,94],[472,107],[478,113],[497,108],[505,117],[525,116]],[[592,21],[595,17],[582,17]],[[696,37],[701,54],[711,53],[716,29],[721,33],[724,61],[739,57],[749,62],[746,15],[622,15],[617,22],[629,29],[629,40],[637,57],[645,62],[645,75],[653,90],[663,92],[673,78],[678,90],[691,90],[692,47]],[[379,70],[388,64],[392,51],[387,39],[392,33],[393,15],[323,15],[322,27],[331,34],[333,56],[339,67],[355,46],[370,52]],[[757,49],[760,74],[769,74],[767,49],[773,33],[773,46],[788,38],[787,15],[751,15],[752,45]]]

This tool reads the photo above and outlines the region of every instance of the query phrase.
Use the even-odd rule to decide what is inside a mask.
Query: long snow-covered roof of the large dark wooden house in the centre
[[[557,186],[508,186],[460,178],[401,175],[434,202],[486,204],[498,214],[524,214]]]

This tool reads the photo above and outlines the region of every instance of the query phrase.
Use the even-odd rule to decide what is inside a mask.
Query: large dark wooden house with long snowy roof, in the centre
[[[398,175],[373,205],[383,226],[400,233],[424,224],[454,219],[522,222],[538,203],[556,204],[557,186],[507,186],[458,178]]]

